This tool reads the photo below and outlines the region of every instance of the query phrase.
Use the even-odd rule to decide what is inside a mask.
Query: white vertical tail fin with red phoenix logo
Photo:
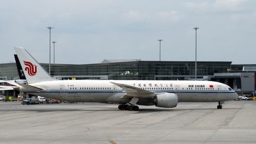
[[[55,81],[43,67],[22,47],[14,47],[28,84]]]

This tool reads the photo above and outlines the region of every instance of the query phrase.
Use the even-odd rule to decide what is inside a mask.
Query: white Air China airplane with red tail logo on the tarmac
[[[14,49],[27,78],[19,90],[46,98],[116,103],[120,110],[137,111],[137,105],[173,108],[178,102],[217,102],[222,109],[224,101],[238,97],[228,85],[213,81],[57,80],[27,50]]]

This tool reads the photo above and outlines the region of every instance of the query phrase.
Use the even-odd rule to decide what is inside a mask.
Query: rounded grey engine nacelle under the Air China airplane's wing
[[[155,96],[155,105],[156,107],[176,107],[178,104],[178,95],[163,93]]]

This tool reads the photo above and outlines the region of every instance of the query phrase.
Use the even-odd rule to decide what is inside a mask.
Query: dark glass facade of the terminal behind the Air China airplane
[[[52,64],[51,75],[62,76],[62,79],[97,79],[105,76],[117,80],[188,80],[194,78],[194,62],[159,62],[132,61],[97,63],[88,65]],[[49,71],[48,63],[41,65]],[[213,76],[214,73],[225,73],[231,68],[231,62],[197,62],[197,78]],[[0,78],[17,79],[15,63],[0,64]]]

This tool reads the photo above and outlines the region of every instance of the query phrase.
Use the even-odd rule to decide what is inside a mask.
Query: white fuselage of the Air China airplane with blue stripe
[[[228,85],[212,81],[115,81],[115,80],[67,80],[47,81],[30,84],[41,91],[27,91],[30,94],[63,101],[129,103],[123,98],[126,91],[111,82],[130,85],[147,91],[178,95],[179,102],[217,102],[234,100],[238,95]],[[138,103],[146,103],[140,98]],[[143,102],[144,101],[144,102]],[[146,103],[146,105],[153,105]]]

